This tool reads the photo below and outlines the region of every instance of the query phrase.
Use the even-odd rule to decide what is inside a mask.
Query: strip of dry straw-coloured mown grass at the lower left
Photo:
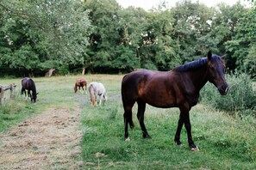
[[[79,113],[50,108],[0,133],[0,169],[78,169]]]

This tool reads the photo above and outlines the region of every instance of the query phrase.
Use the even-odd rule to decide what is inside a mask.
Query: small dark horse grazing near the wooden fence
[[[21,94],[25,93],[26,96],[26,90],[28,90],[28,97],[33,101],[36,102],[37,93],[34,81],[31,78],[25,77],[22,79],[22,91]],[[30,94],[30,90],[32,91],[32,95]]]

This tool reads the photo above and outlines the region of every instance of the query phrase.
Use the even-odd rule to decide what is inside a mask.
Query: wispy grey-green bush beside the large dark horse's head
[[[222,96],[212,84],[207,83],[201,91],[202,102],[234,116],[256,117],[256,91],[253,89],[253,81],[250,77],[242,73],[227,75],[226,78],[229,86],[228,94]]]

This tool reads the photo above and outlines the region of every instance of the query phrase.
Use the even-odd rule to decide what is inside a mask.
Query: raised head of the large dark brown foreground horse
[[[222,95],[228,94],[228,83],[224,76],[224,70],[226,67],[223,62],[224,57],[225,56],[213,56],[211,52],[208,52],[207,56],[209,82],[213,83]]]

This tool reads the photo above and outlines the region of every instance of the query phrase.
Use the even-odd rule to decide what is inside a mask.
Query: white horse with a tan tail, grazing
[[[100,96],[99,106],[102,104],[102,100],[105,102],[107,100],[107,92],[103,83],[101,82],[91,82],[88,86],[88,91],[91,96],[91,105],[97,105],[97,95]]]

